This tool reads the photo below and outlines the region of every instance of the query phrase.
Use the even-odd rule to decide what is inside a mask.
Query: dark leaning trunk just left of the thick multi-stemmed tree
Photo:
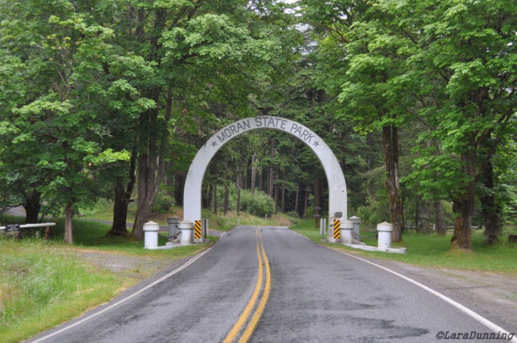
[[[127,235],[127,218],[128,206],[133,194],[134,185],[136,182],[136,149],[133,149],[131,160],[129,162],[129,181],[124,186],[124,179],[117,177],[115,179],[115,201],[113,204],[113,224],[107,236],[124,236]]]

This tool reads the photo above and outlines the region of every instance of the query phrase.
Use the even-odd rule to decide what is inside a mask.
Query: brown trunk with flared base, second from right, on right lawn
[[[462,153],[462,161],[465,162],[466,176],[472,177],[465,192],[457,196],[452,202],[452,210],[458,214],[454,221],[454,232],[451,238],[451,249],[460,248],[474,250],[472,246],[472,217],[476,202],[476,167],[477,156],[474,151]]]

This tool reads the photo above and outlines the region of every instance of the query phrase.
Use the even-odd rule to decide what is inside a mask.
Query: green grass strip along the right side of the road
[[[291,229],[321,243],[320,230],[314,229],[313,221],[300,221]],[[501,236],[499,243],[488,246],[483,243],[482,231],[474,231],[472,237],[474,252],[472,253],[451,251],[450,238],[450,235],[440,237],[417,232],[404,233],[403,243],[392,244],[393,246],[405,246],[407,253],[404,255],[361,251],[342,244],[322,244],[362,256],[396,260],[425,267],[493,271],[517,275],[517,246],[507,242],[507,235]],[[377,245],[375,238],[362,241],[367,245]]]

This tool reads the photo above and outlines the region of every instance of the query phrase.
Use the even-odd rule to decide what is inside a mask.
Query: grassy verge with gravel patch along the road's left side
[[[74,222],[75,242],[68,245],[62,240],[62,221],[56,223],[48,242],[0,237],[0,342],[18,342],[77,317],[168,261],[196,255],[217,240],[148,251],[130,236],[105,238],[109,225],[79,220]],[[104,268],[109,261],[124,268]]]

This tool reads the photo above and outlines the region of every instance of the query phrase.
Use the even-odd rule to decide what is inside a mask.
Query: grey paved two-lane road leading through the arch
[[[226,232],[177,274],[44,341],[220,342],[236,323],[242,323],[236,337],[245,333],[261,304],[250,342],[432,342],[440,331],[491,332],[385,270],[285,228],[256,231]],[[242,319],[247,307],[250,315]]]

